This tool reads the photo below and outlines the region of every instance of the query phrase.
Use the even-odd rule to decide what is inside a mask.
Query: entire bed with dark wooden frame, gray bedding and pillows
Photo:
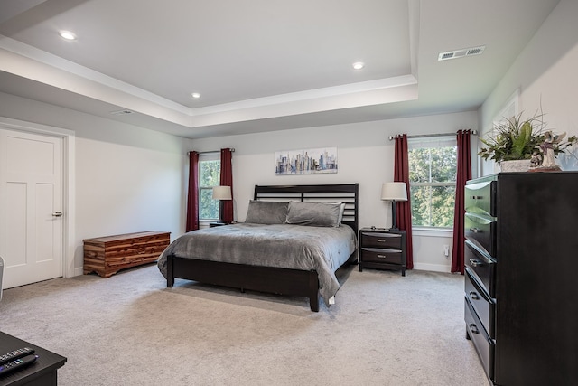
[[[275,219],[266,224],[251,221],[250,217],[256,213],[251,212],[252,206],[266,209],[263,205],[279,205],[283,202],[288,206],[286,221],[290,222],[289,224],[281,224],[281,221]],[[316,226],[318,224],[314,222],[303,223],[301,221],[303,219],[299,217],[300,215],[303,217],[303,213],[312,213],[309,211],[310,207],[314,207],[313,212],[318,208],[329,211],[330,209],[326,208],[331,207],[333,211],[331,213],[334,213],[336,204],[340,205],[339,226]],[[300,211],[291,212],[293,208]],[[318,312],[320,295],[329,306],[332,297],[339,289],[335,271],[344,264],[357,262],[358,208],[359,184],[256,185],[254,198],[249,202],[246,223],[185,233],[163,251],[158,266],[167,280],[167,287],[174,285],[175,278],[183,278],[211,285],[236,287],[241,291],[248,289],[309,297],[311,310]],[[303,212],[303,209],[307,212]],[[296,215],[290,216],[290,212]],[[261,214],[270,217],[272,213],[266,211]],[[312,214],[316,215],[316,212]],[[317,244],[312,251],[303,252],[303,255],[306,255],[304,260],[310,261],[312,265],[308,266],[302,261],[293,267],[287,263],[284,256],[289,252],[278,252],[284,250],[282,248],[275,249],[278,244],[297,245],[294,239],[284,240],[284,235],[292,232],[289,229],[293,229],[297,234],[308,235],[310,240],[325,240],[323,234],[329,234],[329,241],[321,241],[321,244]],[[274,240],[266,241],[268,242],[266,247],[263,245],[255,247],[257,240],[249,236],[252,238],[250,242],[253,243],[254,249],[237,247],[234,244],[236,241],[230,240],[235,239],[235,235],[250,234],[251,231],[256,232],[259,237],[273,235]],[[321,231],[322,236],[314,233],[316,231]],[[332,235],[336,233],[346,235],[345,238],[349,241],[342,239],[343,236],[341,239],[332,240]],[[208,239],[199,241],[196,239],[198,237]],[[211,249],[213,247],[215,248]],[[319,249],[327,251],[333,248],[339,249],[339,252],[331,252],[331,256],[338,256],[337,259],[328,259],[323,253],[319,253],[323,255],[321,260],[325,260],[327,266],[314,256],[318,255]],[[247,250],[251,251],[247,253]],[[223,256],[224,254],[228,256]],[[263,256],[258,261],[253,260],[258,258],[257,255]],[[328,262],[330,260],[331,262]]]

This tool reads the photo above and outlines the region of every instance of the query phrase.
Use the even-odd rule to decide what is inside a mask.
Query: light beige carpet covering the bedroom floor
[[[487,386],[463,277],[357,267],[337,303],[177,280],[154,265],[5,290],[0,330],[68,358],[61,385]]]

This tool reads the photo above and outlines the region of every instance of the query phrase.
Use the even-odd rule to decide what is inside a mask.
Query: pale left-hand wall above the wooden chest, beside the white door
[[[82,240],[184,228],[187,180],[181,137],[0,93],[0,117],[75,133],[74,240],[67,275],[82,273]]]

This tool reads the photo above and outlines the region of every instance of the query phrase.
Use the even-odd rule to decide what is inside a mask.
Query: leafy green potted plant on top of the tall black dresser
[[[535,115],[532,118],[522,119],[522,114],[507,118],[494,125],[494,130],[486,139],[480,138],[484,145],[478,155],[483,159],[494,160],[501,171],[527,171],[531,166],[542,164],[547,138],[559,138],[555,142],[549,141],[554,155],[564,153],[564,149],[576,143],[575,136],[562,141],[565,133],[558,136],[550,130],[545,130],[544,115]],[[517,161],[510,166],[510,161]]]

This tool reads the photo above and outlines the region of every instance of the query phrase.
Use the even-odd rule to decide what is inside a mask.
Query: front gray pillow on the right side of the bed
[[[343,217],[341,202],[289,202],[287,223],[314,227],[339,227]]]

